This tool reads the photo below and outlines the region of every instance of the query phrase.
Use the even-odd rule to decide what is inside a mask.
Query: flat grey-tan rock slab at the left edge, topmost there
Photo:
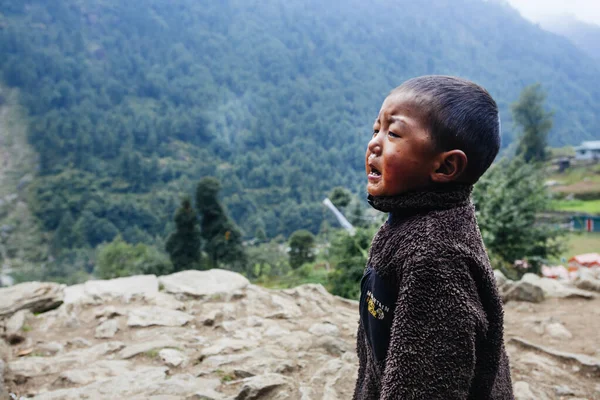
[[[48,282],[25,282],[0,288],[0,319],[19,310],[45,312],[63,303],[64,285]]]

